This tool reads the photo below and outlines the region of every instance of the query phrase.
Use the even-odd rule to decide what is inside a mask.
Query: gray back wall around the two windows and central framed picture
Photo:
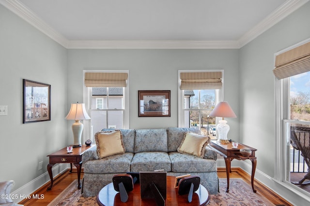
[[[224,96],[238,116],[237,49],[70,49],[68,102],[83,101],[83,70],[129,70],[129,127],[178,126],[178,70],[224,70]],[[171,90],[171,117],[138,118],[138,90]],[[238,118],[229,119],[229,135],[239,137]],[[70,135],[70,134],[69,134]]]

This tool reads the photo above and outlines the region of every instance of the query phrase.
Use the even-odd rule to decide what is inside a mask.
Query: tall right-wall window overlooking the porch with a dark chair
[[[288,187],[310,196],[310,193],[292,184],[299,181],[308,171],[301,148],[296,146],[295,142],[296,135],[304,136],[304,131],[310,130],[310,40],[305,42],[276,54],[274,74],[277,78],[278,161],[275,165],[275,177]]]

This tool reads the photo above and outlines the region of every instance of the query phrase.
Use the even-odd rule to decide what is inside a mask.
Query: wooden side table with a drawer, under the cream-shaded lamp
[[[50,178],[50,186],[47,188],[47,191],[50,191],[53,187],[53,174],[52,174],[52,167],[56,163],[70,163],[70,173],[72,173],[72,163],[77,167],[78,171],[78,189],[81,189],[80,184],[80,176],[81,176],[81,168],[82,168],[82,155],[83,153],[92,148],[94,145],[86,147],[86,145],[82,145],[82,147],[74,147],[71,153],[67,152],[67,147],[58,150],[50,155],[49,157],[49,164],[47,164],[47,171]]]

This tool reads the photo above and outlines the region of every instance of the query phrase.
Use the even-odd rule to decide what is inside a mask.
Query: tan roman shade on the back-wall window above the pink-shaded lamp
[[[183,72],[180,79],[181,90],[222,88],[222,72]]]

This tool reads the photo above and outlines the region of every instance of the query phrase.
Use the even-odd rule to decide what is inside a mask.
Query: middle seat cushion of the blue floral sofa
[[[160,169],[166,172],[171,171],[171,161],[167,152],[139,152],[131,161],[131,172]]]

